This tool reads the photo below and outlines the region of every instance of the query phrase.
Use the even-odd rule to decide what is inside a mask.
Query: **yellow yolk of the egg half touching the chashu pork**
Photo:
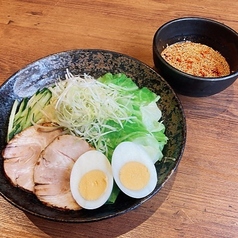
[[[81,178],[78,188],[85,200],[97,200],[107,188],[107,176],[101,170],[89,171]]]

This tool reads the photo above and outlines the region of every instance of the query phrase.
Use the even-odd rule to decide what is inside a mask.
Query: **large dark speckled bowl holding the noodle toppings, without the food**
[[[54,221],[97,221],[130,211],[155,195],[170,178],[182,157],[186,138],[185,117],[177,96],[158,73],[136,59],[105,50],[71,50],[47,56],[18,71],[0,88],[1,151],[6,145],[7,118],[13,101],[31,96],[37,89],[64,77],[66,69],[73,74],[88,73],[94,77],[122,72],[140,87],[146,86],[161,96],[159,107],[169,141],[164,148],[164,159],[156,163],[158,182],[155,190],[142,199],[132,199],[121,193],[115,204],[96,210],[60,211],[43,205],[33,194],[13,187],[4,175],[3,158],[0,157],[0,193],[23,211]]]

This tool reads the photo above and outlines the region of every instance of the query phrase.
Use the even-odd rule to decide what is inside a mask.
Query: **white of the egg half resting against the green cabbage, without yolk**
[[[149,181],[141,189],[129,189],[121,179],[120,173],[122,167],[128,162],[139,162],[146,166],[149,171]],[[114,150],[112,155],[112,173],[114,180],[122,192],[133,198],[142,198],[149,195],[157,184],[157,171],[153,161],[142,146],[134,142],[122,142]],[[139,179],[138,179],[139,181]]]

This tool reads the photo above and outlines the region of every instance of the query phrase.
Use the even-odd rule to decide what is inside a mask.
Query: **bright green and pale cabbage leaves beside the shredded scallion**
[[[125,74],[107,73],[98,80],[113,88],[120,88],[120,93],[125,96],[132,96],[127,104],[131,111],[130,120],[125,120],[122,126],[113,120],[106,122],[109,127],[116,128],[110,133],[107,133],[107,128],[103,131],[109,160],[115,147],[123,141],[142,145],[154,163],[161,160],[162,150],[168,138],[165,135],[165,126],[160,121],[161,110],[157,106],[160,97],[146,87],[138,88]]]

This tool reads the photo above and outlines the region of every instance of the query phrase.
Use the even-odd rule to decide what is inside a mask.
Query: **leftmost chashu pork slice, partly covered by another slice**
[[[28,127],[9,141],[2,153],[3,166],[5,174],[15,186],[33,192],[35,164],[41,152],[60,134],[62,129],[49,123],[44,127]]]

